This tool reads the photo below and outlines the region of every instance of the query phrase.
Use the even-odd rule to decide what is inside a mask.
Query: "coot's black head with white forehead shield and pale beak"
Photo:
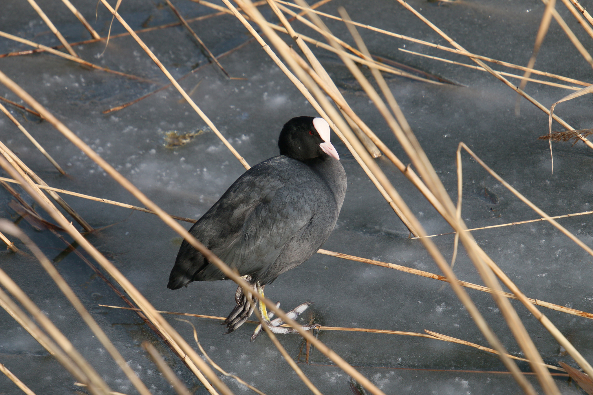
[[[278,139],[280,155],[298,160],[323,158],[340,159],[330,143],[330,126],[323,118],[296,117],[288,121]]]

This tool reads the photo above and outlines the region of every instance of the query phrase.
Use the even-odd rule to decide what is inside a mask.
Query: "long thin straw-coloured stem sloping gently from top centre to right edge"
[[[299,8],[299,9],[307,9],[306,7],[301,7],[300,5],[289,3],[289,2],[285,2],[285,1],[282,1],[282,0],[275,0],[275,1],[277,3],[289,5],[291,7],[296,7],[296,8]],[[315,12],[315,14],[319,14],[319,15],[322,15],[323,17],[327,17],[327,18],[330,18],[330,19],[333,19],[333,20],[343,21],[342,18],[336,17],[335,15],[327,14],[326,12],[321,12],[321,11],[317,11],[317,10],[313,10],[313,12]],[[474,53],[467,52],[466,50],[453,49],[453,48],[442,46],[440,44],[433,44],[433,43],[430,43],[429,41],[423,41],[423,40],[419,40],[417,38],[413,38],[413,37],[409,37],[409,36],[404,36],[402,34],[393,33],[393,32],[388,31],[388,30],[380,29],[380,28],[377,28],[377,27],[372,27],[371,25],[366,25],[366,24],[362,24],[362,23],[358,23],[358,22],[354,22],[354,21],[352,21],[352,24],[353,25],[356,25],[358,27],[362,27],[362,28],[368,29],[368,30],[376,31],[377,33],[386,34],[387,36],[401,38],[402,40],[411,41],[413,43],[422,44],[422,45],[425,45],[425,46],[428,46],[428,47],[433,47],[433,48],[436,48],[436,49],[439,49],[439,50],[444,50],[444,51],[447,51],[447,52],[457,53],[457,54],[460,54],[460,55],[463,55],[463,56],[467,56],[467,57],[472,57],[472,58],[476,58],[476,59],[480,59],[480,60],[485,60],[486,62],[496,63],[497,65],[505,66],[505,67],[508,67],[508,68],[519,69],[519,70],[528,70],[528,71],[530,71],[531,73],[534,73],[534,74],[544,75],[544,76],[548,76],[550,78],[556,78],[556,79],[559,79],[560,81],[571,82],[572,84],[584,85],[584,86],[591,85],[588,82],[582,82],[582,81],[579,81],[577,79],[567,78],[567,77],[562,76],[562,75],[557,75],[557,74],[553,74],[553,73],[543,72],[543,71],[540,71],[540,70],[528,69],[525,66],[519,66],[519,65],[514,65],[513,63],[502,62],[502,60],[496,60],[496,59],[492,59],[491,57],[477,55],[477,54],[474,54]]]

